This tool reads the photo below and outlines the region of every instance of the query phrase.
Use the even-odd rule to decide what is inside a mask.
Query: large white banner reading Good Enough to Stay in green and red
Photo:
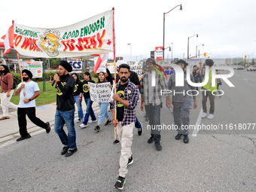
[[[44,58],[113,52],[113,10],[61,28],[14,23],[14,48],[22,55]]]

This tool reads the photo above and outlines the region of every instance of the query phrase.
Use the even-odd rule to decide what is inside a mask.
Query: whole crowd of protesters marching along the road
[[[136,106],[139,105],[140,109],[145,111],[146,120],[151,127],[151,136],[148,138],[148,144],[154,143],[157,151],[162,150],[160,144],[161,134],[160,130],[154,129],[157,125],[160,125],[161,108],[163,107],[163,97],[160,90],[175,90],[172,93],[166,93],[166,107],[173,113],[173,121],[175,126],[178,127],[177,135],[175,139],[179,140],[183,137],[183,142],[187,144],[189,142],[188,126],[190,123],[190,109],[197,108],[197,96],[173,94],[175,92],[187,93],[198,90],[198,87],[191,87],[187,82],[187,67],[188,64],[184,60],[180,59],[176,64],[181,67],[184,72],[184,85],[182,87],[177,86],[175,72],[169,72],[169,80],[166,82],[165,78],[162,78],[160,73],[155,71],[156,61],[152,58],[146,60],[146,67],[142,79],[139,80],[136,72],[130,70],[130,66],[122,61],[117,62],[117,81],[113,84],[114,78],[111,76],[108,69],[106,72],[99,72],[98,81],[95,82],[90,76],[90,72],[84,72],[84,81],[79,80],[78,74],[69,73],[72,72],[72,66],[69,62],[64,60],[59,62],[58,74],[54,75],[53,79],[56,81],[56,114],[54,130],[59,136],[59,140],[62,143],[61,155],[70,157],[78,151],[76,144],[76,132],[75,132],[75,103],[78,108],[78,120],[76,123],[81,123],[79,127],[84,129],[88,126],[88,123],[95,123],[94,130],[100,132],[104,130],[104,126],[113,125],[116,128],[117,139],[114,140],[114,144],[120,143],[120,168],[119,176],[114,187],[122,190],[126,183],[126,174],[128,172],[127,166],[133,163],[132,153],[132,141],[133,141],[133,128],[136,127],[138,135],[142,135],[142,123],[136,116]],[[215,96],[212,95],[213,90],[217,90],[217,86],[221,85],[221,81],[217,79],[215,87],[212,85],[212,59],[206,59],[206,66],[209,66],[209,81],[203,90],[203,114],[202,117],[207,116],[207,98],[209,97],[210,108],[207,118],[212,119],[215,113]],[[190,74],[190,81],[198,83],[204,81],[204,68],[200,62],[200,66],[194,66],[193,72]],[[50,124],[44,123],[41,119],[35,115],[35,99],[40,95],[38,84],[32,81],[32,73],[29,70],[22,71],[23,82],[17,85],[17,89],[14,86],[14,77],[11,75],[8,66],[0,66],[0,84],[1,84],[1,105],[3,111],[3,117],[0,120],[8,120],[8,108],[17,109],[18,125],[20,127],[20,138],[17,142],[23,139],[29,139],[31,136],[26,130],[26,115],[35,123],[46,130],[46,133],[50,133]],[[152,79],[154,81],[152,81]],[[99,102],[99,117],[97,118],[93,111],[93,99],[90,94],[90,83],[93,84],[109,84],[105,87],[105,90],[111,90],[112,97],[111,102]],[[113,86],[116,87],[114,91]],[[113,89],[112,89],[113,88]],[[20,94],[19,105],[14,105],[10,102],[11,96]],[[192,95],[192,94],[191,94]],[[87,105],[85,114],[82,108],[82,102]],[[194,104],[193,104],[194,102]],[[108,114],[108,105],[112,111],[112,119]],[[67,133],[63,129],[66,125]],[[181,129],[181,125],[184,125],[185,129]]]

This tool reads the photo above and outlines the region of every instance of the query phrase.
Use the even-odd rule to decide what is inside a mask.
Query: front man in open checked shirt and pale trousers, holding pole
[[[139,89],[128,80],[130,75],[130,66],[127,64],[120,65],[120,83],[117,83],[117,93],[113,95],[114,103],[117,105],[117,119],[112,120],[113,126],[117,128],[117,135],[121,143],[120,154],[120,169],[119,177],[117,178],[114,187],[122,190],[125,184],[127,166],[133,163],[132,157],[132,140],[133,140],[133,127],[136,120],[136,105],[139,99]],[[112,110],[113,117],[115,110]]]

